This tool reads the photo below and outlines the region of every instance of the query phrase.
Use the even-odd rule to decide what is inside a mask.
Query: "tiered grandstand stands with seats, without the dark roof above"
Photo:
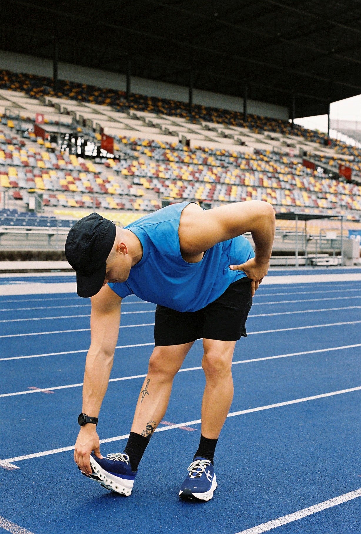
[[[126,224],[169,202],[195,200],[212,208],[264,200],[280,214],[326,216],[322,224],[317,218],[309,225],[304,241],[330,225],[340,232],[340,221],[329,220],[332,215],[344,218],[345,238],[360,226],[361,150],[355,146],[283,119],[201,105],[190,112],[186,103],[141,95],[128,102],[122,91],[74,82],[65,82],[55,95],[44,90],[51,83],[1,72],[3,208],[31,213],[36,196],[41,199],[36,211],[64,227],[64,217],[76,220],[89,210]],[[3,246],[20,218],[11,223],[9,216],[2,218]],[[27,226],[22,219],[20,240]],[[288,231],[292,240],[295,222],[280,220],[278,230],[274,253],[281,257],[273,262],[291,264],[285,235]],[[44,246],[61,248],[65,237],[59,240],[58,233]],[[17,240],[13,244],[18,246]],[[325,242],[324,252],[325,245],[334,256],[334,247]],[[317,255],[316,239],[311,247]]]

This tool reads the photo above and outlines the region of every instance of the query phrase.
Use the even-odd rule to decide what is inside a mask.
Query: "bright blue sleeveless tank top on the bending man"
[[[206,250],[198,263],[183,260],[178,227],[182,210],[189,203],[172,204],[126,226],[139,238],[143,256],[130,269],[125,282],[109,284],[117,295],[124,299],[134,294],[173,310],[197,311],[246,276],[243,271],[229,269],[229,265],[239,265],[255,256],[242,235]]]

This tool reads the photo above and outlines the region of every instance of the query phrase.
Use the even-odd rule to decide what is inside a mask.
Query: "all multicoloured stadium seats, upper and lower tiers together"
[[[361,176],[360,151],[337,140],[329,142],[322,133],[297,125],[291,130],[288,121],[256,115],[248,115],[245,123],[240,113],[204,106],[194,106],[190,115],[185,103],[140,95],[132,95],[130,103],[126,103],[121,91],[85,84],[60,81],[55,95],[50,85],[47,78],[0,72],[0,88],[24,91],[34,99],[34,109],[40,106],[35,98],[43,98],[48,104],[73,113],[73,127],[78,124],[79,130],[85,129],[85,123],[76,121],[88,117],[87,124],[92,126],[88,124],[86,131],[91,139],[100,140],[97,128],[102,121],[120,125],[119,131],[128,128],[129,134],[119,133],[114,137],[120,158],[93,160],[60,151],[56,144],[36,138],[31,122],[24,127],[22,135],[15,135],[15,130],[22,130],[21,121],[4,115],[3,129],[0,129],[0,186],[9,189],[19,203],[28,203],[30,190],[42,193],[43,205],[49,209],[152,211],[160,208],[162,198],[166,198],[195,199],[210,206],[229,201],[265,200],[277,211],[299,208],[316,213],[343,213],[349,218],[357,218],[361,211],[361,186],[305,168],[300,158],[272,150],[272,144],[270,150],[256,148],[267,146],[270,139],[278,147],[282,136],[289,136],[291,145],[298,136],[308,143],[310,150],[319,147],[313,159],[327,164],[328,168],[338,169],[339,163],[344,163],[342,155],[351,155],[353,160],[348,164],[355,175]],[[6,91],[1,95],[6,98]],[[16,100],[14,95],[11,98]],[[24,93],[19,95],[17,101],[24,103],[24,108],[33,109],[31,98],[24,98]],[[97,114],[103,119],[98,119]],[[172,121],[172,117],[178,118]],[[234,143],[241,142],[237,136],[242,135],[244,127],[252,132],[254,142],[249,148],[243,146],[241,151],[241,146]],[[138,131],[132,133],[130,128]],[[178,137],[163,138],[174,142],[150,135],[156,130],[171,129],[173,134],[178,132]],[[265,132],[276,132],[281,137],[265,136]],[[150,138],[144,138],[148,133]],[[180,143],[182,135],[188,136],[191,146],[195,146],[190,148]],[[223,145],[227,148],[229,143],[232,148],[197,147],[198,139],[209,140],[212,136],[223,139]],[[324,148],[322,152],[326,143],[329,150]]]

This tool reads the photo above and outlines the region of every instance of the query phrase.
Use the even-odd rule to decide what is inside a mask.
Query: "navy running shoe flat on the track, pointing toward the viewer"
[[[216,475],[210,460],[197,457],[188,467],[189,474],[181,485],[181,499],[210,500],[217,488]]]

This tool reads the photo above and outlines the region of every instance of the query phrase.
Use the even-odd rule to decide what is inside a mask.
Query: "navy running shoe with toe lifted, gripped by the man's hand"
[[[132,493],[134,478],[138,472],[132,471],[129,456],[118,452],[107,454],[106,458],[97,458],[95,454],[90,454],[90,466],[93,478],[107,490],[114,491],[127,497]]]

